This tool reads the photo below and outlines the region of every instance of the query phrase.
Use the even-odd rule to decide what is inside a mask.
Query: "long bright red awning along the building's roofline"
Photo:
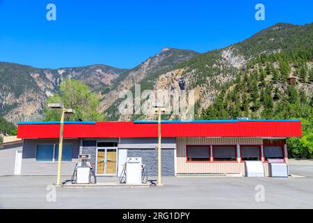
[[[161,124],[162,137],[301,137],[300,121],[212,121]],[[20,139],[58,138],[58,123],[19,123]],[[157,123],[65,123],[65,138],[157,137]]]

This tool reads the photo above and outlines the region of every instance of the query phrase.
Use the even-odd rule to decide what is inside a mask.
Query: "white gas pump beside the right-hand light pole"
[[[127,157],[126,163],[126,183],[142,183],[142,160],[141,157]]]

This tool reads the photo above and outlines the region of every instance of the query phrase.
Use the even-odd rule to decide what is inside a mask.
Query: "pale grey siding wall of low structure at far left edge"
[[[16,151],[22,151],[22,143],[0,149],[0,175],[14,175]]]

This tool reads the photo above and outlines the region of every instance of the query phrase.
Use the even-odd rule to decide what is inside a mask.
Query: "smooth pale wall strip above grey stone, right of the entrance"
[[[158,146],[157,138],[122,138],[118,148],[156,148]],[[161,148],[175,148],[175,138],[162,138]]]

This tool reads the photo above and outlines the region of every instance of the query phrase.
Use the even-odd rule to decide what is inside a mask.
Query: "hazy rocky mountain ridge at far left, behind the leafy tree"
[[[126,72],[104,65],[53,70],[0,63],[0,116],[13,123],[38,120],[46,98],[58,91],[63,78],[81,79],[93,91],[101,92]]]

